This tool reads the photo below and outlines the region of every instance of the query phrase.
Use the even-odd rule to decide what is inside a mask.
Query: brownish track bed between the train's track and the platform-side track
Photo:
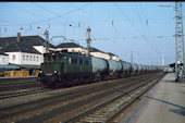
[[[146,76],[144,77],[144,76],[141,79],[147,79],[147,77]],[[150,75],[150,77],[152,75]],[[96,86],[92,86],[92,87],[89,86],[86,88],[82,87],[82,88],[73,90],[73,91],[71,91],[71,90],[65,91],[62,94],[58,94],[57,96],[54,95],[54,96],[44,98],[44,99],[33,100],[33,101],[28,101],[28,102],[22,102],[22,103],[7,106],[7,107],[1,107],[0,108],[0,119],[3,121],[5,119],[16,116],[18,114],[23,114],[24,112],[27,112],[27,111],[38,110],[44,107],[54,106],[57,103],[61,103],[64,101],[70,102],[70,100],[77,99],[83,96],[86,96],[87,98],[89,98],[95,93],[96,93],[96,95],[111,95],[113,93],[122,91],[123,89],[126,89],[134,85],[139,84],[138,77],[131,78],[131,79],[133,79],[132,83],[128,83],[128,82],[127,83],[119,82],[119,83],[109,83],[109,84],[104,83],[101,86],[96,85]]]

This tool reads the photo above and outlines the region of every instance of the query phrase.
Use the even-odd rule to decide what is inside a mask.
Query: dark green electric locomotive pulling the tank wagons
[[[89,76],[92,74],[90,57],[67,52],[50,52],[44,57],[39,74],[42,84],[73,86],[89,82]]]

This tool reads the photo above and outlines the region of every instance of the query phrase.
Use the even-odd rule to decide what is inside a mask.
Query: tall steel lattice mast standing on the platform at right
[[[183,63],[183,66],[181,65]],[[175,2],[175,81],[183,82],[185,74],[182,1]]]

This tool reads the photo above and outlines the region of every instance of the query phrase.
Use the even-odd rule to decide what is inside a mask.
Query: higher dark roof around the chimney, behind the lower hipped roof
[[[9,44],[16,40],[17,37],[3,37],[0,38],[0,47],[5,47]],[[44,46],[46,40],[40,36],[21,36],[21,42],[29,46]],[[50,48],[55,48],[53,45],[49,45]]]

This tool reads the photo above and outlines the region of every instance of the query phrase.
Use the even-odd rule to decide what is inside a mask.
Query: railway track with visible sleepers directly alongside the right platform
[[[81,112],[70,119],[62,121],[62,123],[104,123],[111,120],[123,109],[130,106],[133,101],[151,88],[162,76],[155,79],[151,78],[132,89],[121,93],[120,95],[106,100],[84,112]]]

